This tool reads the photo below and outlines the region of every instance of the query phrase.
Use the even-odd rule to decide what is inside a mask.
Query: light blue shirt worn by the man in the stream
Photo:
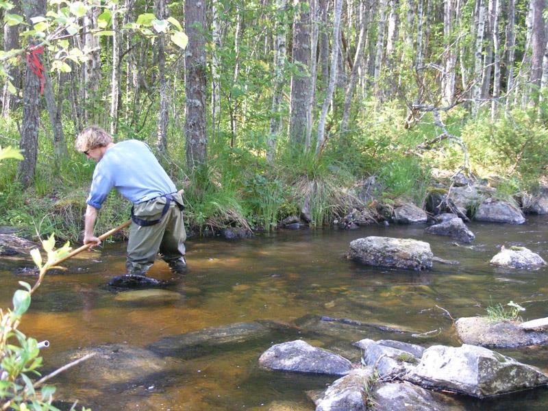
[[[101,208],[112,188],[134,204],[177,191],[150,147],[126,140],[108,149],[95,166],[86,203]]]

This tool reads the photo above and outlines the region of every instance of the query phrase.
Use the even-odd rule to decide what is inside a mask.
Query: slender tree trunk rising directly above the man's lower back
[[[166,10],[166,0],[155,1],[155,16],[164,20],[168,17]],[[158,85],[160,87],[160,112],[158,112],[158,130],[156,136],[156,146],[162,154],[167,153],[167,127],[169,125],[169,97],[167,93],[168,83],[166,79],[166,55],[165,35],[158,34],[155,45],[158,52]]]

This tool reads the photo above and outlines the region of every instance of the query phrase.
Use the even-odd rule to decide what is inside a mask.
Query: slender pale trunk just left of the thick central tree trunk
[[[276,35],[274,40],[274,92],[272,95],[272,116],[270,119],[269,139],[267,140],[266,161],[273,164],[276,155],[276,142],[280,129],[282,129],[282,118],[279,113],[282,103],[282,87],[284,86],[284,69],[286,63],[286,26],[283,16],[286,12],[287,1],[277,0],[276,6],[280,20],[276,21]]]

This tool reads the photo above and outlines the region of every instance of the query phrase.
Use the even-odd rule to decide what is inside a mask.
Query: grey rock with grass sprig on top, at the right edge
[[[548,344],[548,331],[526,331],[519,323],[490,321],[486,317],[463,317],[455,323],[464,344],[490,348],[516,348]]]

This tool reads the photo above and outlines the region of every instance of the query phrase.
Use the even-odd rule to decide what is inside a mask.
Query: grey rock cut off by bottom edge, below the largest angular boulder
[[[410,382],[375,384],[373,409],[377,411],[458,411],[463,406],[447,395],[432,393]]]

